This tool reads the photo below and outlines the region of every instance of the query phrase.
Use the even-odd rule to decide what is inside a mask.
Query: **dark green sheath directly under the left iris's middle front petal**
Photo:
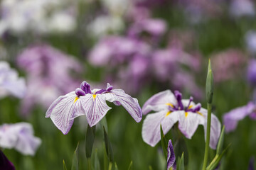
[[[95,128],[96,126],[90,127],[90,125],[87,125],[87,131],[86,131],[86,137],[85,137],[85,152],[86,157],[90,158],[92,156],[92,147],[93,142],[95,139]]]

